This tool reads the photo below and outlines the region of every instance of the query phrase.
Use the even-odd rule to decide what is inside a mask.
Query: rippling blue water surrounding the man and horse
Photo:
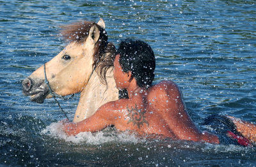
[[[0,166],[255,166],[255,148],[145,140],[113,128],[77,142],[54,136],[45,129],[65,118],[54,100],[30,102],[21,88],[66,45],[61,25],[103,18],[115,45],[133,38],[152,46],[154,82],[175,81],[196,124],[211,114],[256,123],[255,3],[0,1]],[[71,118],[78,100],[60,100]]]

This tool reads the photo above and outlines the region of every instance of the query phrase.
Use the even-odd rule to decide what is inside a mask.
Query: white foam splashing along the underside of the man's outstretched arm
[[[102,143],[108,143],[111,141],[122,143],[141,143],[145,142],[145,139],[138,138],[136,134],[131,132],[118,132],[113,128],[108,127],[99,132],[81,132],[76,136],[67,136],[63,131],[62,123],[51,123],[47,126],[42,134],[51,136],[53,138],[64,139],[65,141],[71,141],[73,143],[87,143],[92,145],[100,145]]]

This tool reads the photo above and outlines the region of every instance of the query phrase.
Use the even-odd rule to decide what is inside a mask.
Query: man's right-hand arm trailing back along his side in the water
[[[177,84],[169,81],[161,83],[162,97],[158,97],[163,118],[179,139],[219,143],[218,137],[209,132],[201,132],[189,117]],[[164,90],[164,91],[163,91]]]

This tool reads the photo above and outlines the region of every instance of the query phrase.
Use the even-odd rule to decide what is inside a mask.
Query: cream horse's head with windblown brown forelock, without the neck
[[[100,68],[100,62],[106,59],[104,56],[109,45],[104,28],[102,19],[97,24],[83,21],[63,27],[61,35],[70,40],[70,44],[51,61],[45,63],[45,70],[42,65],[31,76],[24,79],[22,82],[24,95],[30,95],[31,101],[38,103],[52,97],[45,83],[45,75],[52,91],[61,96],[82,91],[94,67]],[[110,59],[109,65],[105,65],[100,70],[106,70],[106,67],[113,65],[113,58]]]

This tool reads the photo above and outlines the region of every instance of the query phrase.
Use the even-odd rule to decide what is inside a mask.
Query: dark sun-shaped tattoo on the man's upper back
[[[137,104],[135,104],[135,107],[131,107],[131,109],[129,109],[127,105],[127,111],[130,118],[127,124],[132,122],[133,125],[137,125],[139,129],[143,126],[143,123],[148,125],[147,120],[145,120],[146,111],[141,111],[141,109],[138,109]]]

